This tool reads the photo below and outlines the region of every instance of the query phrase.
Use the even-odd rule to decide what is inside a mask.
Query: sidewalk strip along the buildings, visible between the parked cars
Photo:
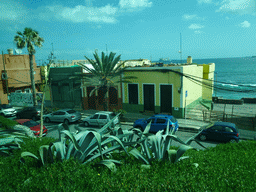
[[[98,112],[97,110],[84,110],[81,111],[82,115],[84,117],[93,115],[94,113]],[[121,124],[128,124],[133,125],[133,122],[137,119],[142,118],[149,118],[153,115],[147,114],[147,113],[125,113],[124,114],[124,120],[122,120]],[[210,123],[209,122],[203,122],[203,121],[197,121],[192,119],[177,119],[179,123],[179,131],[186,131],[186,132],[193,132],[197,133],[199,129],[203,126],[207,126]],[[240,133],[240,138],[243,140],[256,140],[256,132],[255,131],[247,131],[247,130],[238,130]]]

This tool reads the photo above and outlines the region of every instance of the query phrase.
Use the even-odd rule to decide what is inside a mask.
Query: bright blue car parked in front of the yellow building
[[[148,119],[138,119],[134,122],[133,127],[134,128],[139,128],[142,131],[146,128],[147,124],[151,121],[151,127],[150,127],[150,132],[158,132],[160,130],[165,130],[167,127],[167,123],[169,121],[170,127],[172,127],[172,130],[178,131],[179,125],[178,121],[176,120],[175,117],[172,115],[164,115],[164,114],[157,114],[153,115],[152,117]]]

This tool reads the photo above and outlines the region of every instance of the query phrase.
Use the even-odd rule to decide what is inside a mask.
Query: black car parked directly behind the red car
[[[40,119],[41,106],[36,107],[24,107],[17,112],[17,119],[32,119],[34,121]]]

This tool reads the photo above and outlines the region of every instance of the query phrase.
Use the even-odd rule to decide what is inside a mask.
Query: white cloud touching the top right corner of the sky
[[[252,14],[256,13],[255,0],[222,0],[221,7],[217,12]]]

